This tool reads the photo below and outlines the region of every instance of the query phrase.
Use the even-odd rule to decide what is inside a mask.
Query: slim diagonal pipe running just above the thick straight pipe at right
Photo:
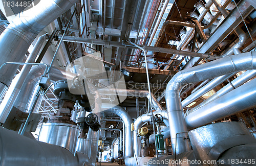
[[[234,87],[237,88],[237,87],[243,85],[244,83],[246,83],[247,81],[249,81],[250,79],[253,79],[255,76],[256,76],[256,70],[247,70],[245,73],[240,75],[238,78],[236,78],[233,81],[231,81],[231,84]],[[228,93],[228,92],[230,92],[232,90],[233,90],[233,87],[230,84],[227,84],[222,89],[217,91],[214,95],[209,97],[207,100],[203,101],[202,103],[200,103],[199,105],[197,105],[193,109],[189,110],[188,114],[191,113],[191,112],[194,112],[197,109],[203,107],[204,105],[206,105],[206,104],[208,104],[208,103],[210,103],[210,102],[220,98],[221,96],[223,96],[224,94],[226,94],[226,93]]]

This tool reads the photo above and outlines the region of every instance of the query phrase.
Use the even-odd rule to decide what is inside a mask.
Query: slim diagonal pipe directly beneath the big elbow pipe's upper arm
[[[199,90],[197,90],[196,92],[194,92],[193,94],[190,94],[190,96],[188,96],[186,99],[184,99],[181,104],[182,107],[186,107],[187,105],[189,105],[190,103],[194,102],[195,100],[197,100],[198,98],[200,98],[201,96],[203,96],[203,94],[207,93],[208,91],[210,91],[211,89],[215,88],[216,86],[220,85],[221,83],[223,83],[224,81],[226,81],[227,79],[229,79],[230,77],[232,77],[234,74],[236,73],[231,73],[231,74],[227,74],[224,76],[220,76],[217,78],[212,79],[210,82],[208,82],[206,85],[204,85],[202,88],[200,88]]]

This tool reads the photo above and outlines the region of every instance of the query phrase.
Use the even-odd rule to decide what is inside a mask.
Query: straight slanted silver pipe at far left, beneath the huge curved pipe
[[[45,41],[47,37],[47,34],[42,35],[38,38],[33,51],[29,55],[28,59],[26,60],[26,63],[34,63],[35,59],[37,57],[37,54],[39,53],[42,43]],[[10,112],[15,100],[18,97],[18,93],[20,92],[20,89],[22,88],[22,85],[29,74],[29,71],[31,69],[32,65],[26,64],[22,67],[22,70],[20,73],[14,78],[13,82],[11,83],[9,89],[6,92],[5,98],[3,102],[1,103],[0,112]],[[12,67],[10,67],[12,68]],[[6,117],[2,117],[6,118]]]

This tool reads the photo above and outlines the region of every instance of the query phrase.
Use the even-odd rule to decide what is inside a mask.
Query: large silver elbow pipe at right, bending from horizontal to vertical
[[[186,136],[183,132],[187,132],[187,127],[180,99],[182,88],[189,83],[200,82],[247,69],[256,69],[256,52],[227,56],[181,70],[168,82],[165,99],[173,152],[176,149],[176,154],[180,154],[188,149],[183,141],[183,136]],[[177,134],[178,137],[176,136]]]

